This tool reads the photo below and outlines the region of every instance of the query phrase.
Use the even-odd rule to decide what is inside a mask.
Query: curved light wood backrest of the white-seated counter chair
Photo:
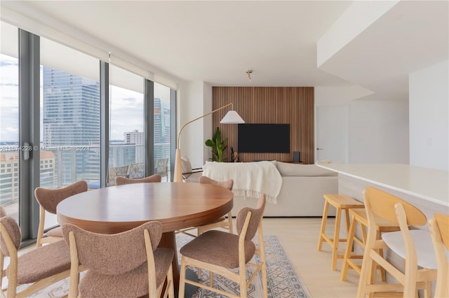
[[[393,194],[368,186],[363,192],[363,196],[365,198],[365,204],[369,204],[369,206],[366,207],[367,213],[369,208],[380,218],[399,223],[395,205],[400,203],[406,213],[407,225],[423,226],[427,224],[426,215],[424,215],[420,209]]]

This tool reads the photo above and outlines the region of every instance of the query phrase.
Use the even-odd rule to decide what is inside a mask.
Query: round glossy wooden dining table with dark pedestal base
[[[160,247],[173,248],[175,231],[204,225],[232,210],[233,194],[216,185],[200,183],[135,183],[89,190],[61,201],[60,225],[71,223],[90,232],[115,234],[150,220],[162,224]],[[173,258],[175,287],[179,264]]]

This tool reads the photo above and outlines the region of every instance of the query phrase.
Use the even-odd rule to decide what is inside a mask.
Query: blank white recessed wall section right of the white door
[[[408,101],[349,104],[349,163],[409,163]]]

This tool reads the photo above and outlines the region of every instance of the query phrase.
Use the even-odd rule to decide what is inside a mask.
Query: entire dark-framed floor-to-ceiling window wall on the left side
[[[35,187],[100,187],[105,164],[133,164],[126,175],[140,178],[158,171],[156,159],[168,159],[170,180],[175,90],[4,22],[0,70],[0,204],[18,220],[22,240],[36,236]],[[56,224],[46,215],[47,228]]]

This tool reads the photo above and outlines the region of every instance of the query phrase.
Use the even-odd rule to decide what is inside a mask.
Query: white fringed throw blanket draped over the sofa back
[[[222,181],[232,179],[235,196],[260,197],[276,204],[281,191],[282,177],[272,162],[206,162],[203,176]]]

